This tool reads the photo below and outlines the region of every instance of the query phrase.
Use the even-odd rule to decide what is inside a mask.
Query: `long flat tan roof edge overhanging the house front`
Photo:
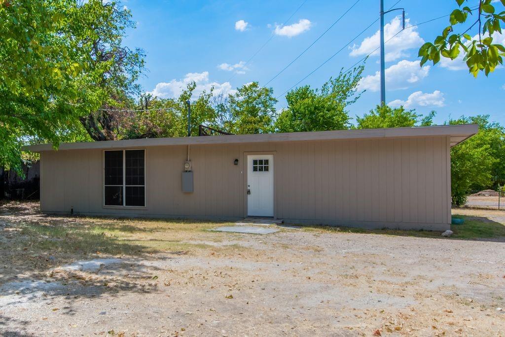
[[[262,133],[240,135],[141,138],[107,141],[61,143],[58,150],[125,149],[154,146],[236,144],[278,141],[311,141],[336,139],[381,139],[407,137],[450,136],[450,146],[456,146],[479,131],[477,124],[397,127],[383,129],[352,129],[316,132]],[[52,144],[25,146],[23,151],[54,151]]]

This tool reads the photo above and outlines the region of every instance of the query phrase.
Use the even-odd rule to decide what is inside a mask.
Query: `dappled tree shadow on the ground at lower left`
[[[19,215],[18,215],[19,214]],[[158,253],[153,247],[138,241],[122,240],[111,232],[150,232],[152,228],[117,225],[99,226],[87,219],[48,217],[33,207],[15,203],[0,211],[0,286],[8,285],[2,295],[18,294],[37,287],[46,296],[99,296],[105,292],[145,292],[138,278],[149,277],[135,271],[132,264],[118,264],[114,274],[100,269],[99,275],[84,275],[79,270],[58,271],[58,267],[79,260],[103,257],[148,259]],[[173,254],[181,254],[177,251]],[[171,254],[168,252],[167,254]],[[55,269],[56,268],[56,269]],[[118,275],[130,274],[128,278]],[[41,280],[44,281],[35,281]],[[48,280],[48,281],[47,281]],[[38,283],[37,283],[38,282]],[[64,285],[59,286],[58,284]],[[86,287],[88,291],[79,289]],[[28,290],[26,290],[28,289]],[[33,292],[32,292],[33,293]]]

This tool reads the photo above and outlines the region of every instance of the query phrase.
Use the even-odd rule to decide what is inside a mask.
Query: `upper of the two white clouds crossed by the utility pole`
[[[406,25],[409,25],[409,22],[409,19],[405,20]],[[393,18],[391,22],[384,26],[384,41],[387,41],[385,44],[385,60],[388,62],[402,57],[408,57],[409,54],[405,51],[418,48],[424,43],[424,40],[419,36],[417,27],[403,30],[398,35],[392,37],[399,31],[401,31],[401,20],[399,16]],[[350,48],[350,56],[368,55],[379,47],[379,43],[380,32],[377,31],[372,36],[365,37],[359,46],[353,45]],[[379,56],[379,50],[376,50],[371,55]]]

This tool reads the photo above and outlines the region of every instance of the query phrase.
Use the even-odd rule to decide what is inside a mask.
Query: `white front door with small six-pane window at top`
[[[247,156],[247,215],[274,216],[274,156]]]

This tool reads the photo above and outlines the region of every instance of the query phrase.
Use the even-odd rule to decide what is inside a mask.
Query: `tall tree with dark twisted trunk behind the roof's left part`
[[[144,69],[145,55],[122,43],[125,30],[135,23],[128,9],[102,0],[84,2],[74,22],[79,29],[71,31],[69,38],[81,45],[88,68],[78,81],[81,94],[75,109],[92,139],[114,140],[121,111],[132,109],[140,94],[136,80]]]

